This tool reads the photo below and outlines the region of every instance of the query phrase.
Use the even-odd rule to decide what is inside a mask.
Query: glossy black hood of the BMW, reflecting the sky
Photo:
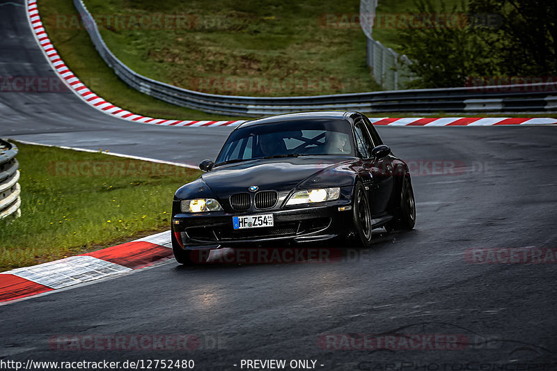
[[[335,180],[335,175],[345,175],[345,167],[353,160],[351,157],[336,156],[256,159],[219,166],[203,174],[202,179],[216,196],[247,192],[253,185],[258,187],[258,191],[290,191],[310,177],[310,182],[316,180],[312,182],[316,187],[331,187],[342,185]],[[324,171],[327,171],[327,177],[323,176]]]

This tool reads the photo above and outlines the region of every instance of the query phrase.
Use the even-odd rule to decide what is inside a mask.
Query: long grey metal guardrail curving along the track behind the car
[[[557,110],[557,82],[506,86],[474,86],[306,97],[244,97],[178,88],[131,70],[110,51],[82,0],[74,0],[95,48],[114,73],[142,93],[165,102],[229,116],[259,117],[296,111],[348,110],[366,113],[522,113]],[[375,59],[375,56],[373,56]],[[377,56],[379,58],[379,56]],[[386,59],[381,56],[380,59]],[[398,85],[398,81],[393,81]]]

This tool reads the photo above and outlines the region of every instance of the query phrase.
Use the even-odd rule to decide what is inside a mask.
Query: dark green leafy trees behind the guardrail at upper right
[[[469,6],[460,3],[451,13],[444,3],[415,4],[419,15],[454,15],[461,22],[399,32],[416,77],[409,87],[464,86],[469,77],[557,74],[556,0],[469,0]]]

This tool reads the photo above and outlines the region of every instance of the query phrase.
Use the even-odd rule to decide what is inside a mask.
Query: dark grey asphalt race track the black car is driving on
[[[24,8],[1,4],[0,75],[54,76]],[[557,248],[555,129],[379,127],[411,164],[415,230],[379,230],[373,248],[351,248],[333,262],[185,268],[169,260],[0,306],[0,361],[193,359],[199,370],[237,370],[242,359],[311,359],[322,370],[556,370],[557,265],[478,264],[466,255]],[[11,139],[195,164],[214,158],[228,132],[127,123],[72,93],[0,93],[0,136]],[[196,349],[52,346],[56,336],[174,334],[196,336]],[[342,341],[320,342],[327,334]],[[358,334],[399,336],[388,349],[350,349],[357,342],[343,341]],[[432,347],[424,338],[436,334],[462,341]],[[424,341],[407,349],[404,336]]]

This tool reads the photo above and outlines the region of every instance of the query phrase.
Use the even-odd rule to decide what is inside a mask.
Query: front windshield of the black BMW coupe
[[[354,156],[351,125],[345,120],[296,120],[235,130],[216,164],[265,157]]]

